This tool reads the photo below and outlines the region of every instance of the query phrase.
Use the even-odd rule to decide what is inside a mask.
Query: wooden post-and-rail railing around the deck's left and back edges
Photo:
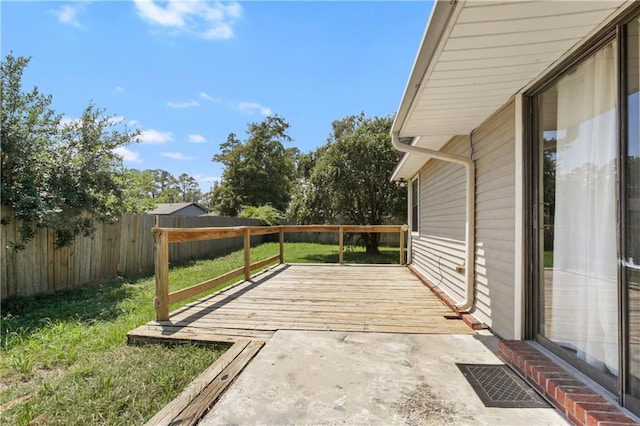
[[[404,245],[407,225],[283,225],[283,226],[239,226],[223,228],[153,228],[155,248],[156,298],[155,309],[158,321],[169,319],[169,306],[188,299],[236,277],[251,278],[251,271],[274,262],[284,263],[284,240],[287,232],[337,232],[338,263],[344,263],[345,233],[397,232],[400,236],[400,264],[404,265]],[[251,237],[254,235],[279,234],[280,252],[267,259],[251,263]],[[169,243],[217,240],[242,237],[244,240],[244,266],[226,274],[201,282],[191,287],[169,293]]]

